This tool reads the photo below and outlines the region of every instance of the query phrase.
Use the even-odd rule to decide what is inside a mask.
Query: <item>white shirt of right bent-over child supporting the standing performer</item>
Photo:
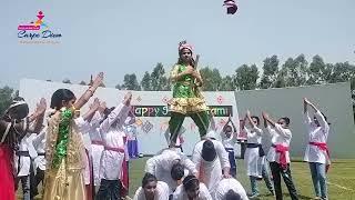
[[[225,151],[222,142],[217,140],[211,140],[216,151],[216,158],[211,162],[203,160],[202,147],[204,141],[206,140],[202,140],[195,144],[192,152],[192,161],[196,164],[201,182],[205,183],[212,193],[223,177],[222,169],[231,168],[231,164],[229,153]]]

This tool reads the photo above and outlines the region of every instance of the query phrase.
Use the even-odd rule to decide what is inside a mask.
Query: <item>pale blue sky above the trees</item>
[[[166,70],[186,39],[202,66],[234,73],[243,63],[272,54],[282,61],[304,53],[326,62],[355,62],[354,0],[239,0],[227,16],[223,0],[2,0],[0,2],[0,86],[18,88],[21,78],[72,82],[105,72],[105,84],[139,78],[156,62]],[[38,11],[59,44],[21,44],[17,27]]]

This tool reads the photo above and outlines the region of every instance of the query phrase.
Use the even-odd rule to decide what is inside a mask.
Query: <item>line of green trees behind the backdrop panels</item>
[[[262,70],[260,70],[262,69]],[[158,62],[152,72],[145,71],[141,80],[135,73],[128,73],[123,77],[123,83],[118,83],[116,89],[142,90],[142,91],[169,91],[171,82],[169,72],[164,66]],[[255,90],[268,88],[300,87],[335,82],[351,82],[353,109],[355,117],[355,66],[349,62],[327,63],[318,54],[308,62],[304,54],[296,58],[288,58],[284,63],[280,62],[277,56],[267,57],[263,60],[262,68],[256,64],[242,64],[234,72],[222,76],[217,68],[200,67],[204,80],[204,91],[234,91]],[[48,80],[51,81],[51,80]],[[65,78],[63,83],[72,83]],[[80,81],[79,84],[91,84]],[[102,84],[101,87],[105,87]],[[18,92],[17,92],[18,93]],[[0,113],[8,107],[16,91],[9,87],[0,88]]]

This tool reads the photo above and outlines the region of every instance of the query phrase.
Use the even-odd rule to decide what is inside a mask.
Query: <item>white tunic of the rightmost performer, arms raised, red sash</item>
[[[305,126],[307,127],[308,142],[326,143],[329,134],[329,126],[321,111],[317,110],[317,112],[315,112],[314,116],[316,117],[320,127],[312,122],[308,112],[305,114]],[[326,163],[328,157],[325,151],[321,150],[316,146],[311,146],[310,143],[307,143],[306,151],[304,154],[304,161]]]

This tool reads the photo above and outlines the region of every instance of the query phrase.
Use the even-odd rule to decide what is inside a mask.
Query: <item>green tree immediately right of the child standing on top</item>
[[[204,91],[216,91],[220,90],[219,87],[222,82],[222,77],[220,74],[220,71],[217,69],[211,70],[209,67],[202,68],[200,70],[203,86],[202,90]]]

